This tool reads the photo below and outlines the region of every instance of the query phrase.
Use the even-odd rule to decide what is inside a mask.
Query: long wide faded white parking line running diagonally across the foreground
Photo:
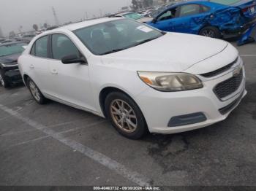
[[[107,157],[106,155],[103,155],[100,152],[94,151],[93,149],[86,147],[85,145],[80,144],[77,141],[68,139],[64,137],[62,134],[56,133],[54,130],[47,128],[45,127],[45,125],[39,124],[38,122],[31,120],[28,117],[23,117],[18,112],[13,111],[7,106],[3,106],[0,104],[0,109],[3,110],[4,112],[7,112],[8,114],[11,114],[13,117],[16,117],[18,120],[25,122],[31,127],[42,131],[47,136],[50,136],[53,139],[60,141],[62,144],[67,145],[73,150],[76,150],[82,153],[86,157],[90,157],[92,160],[96,161],[97,163],[100,163],[105,167],[109,168],[110,170],[115,171],[116,174],[124,176],[124,178],[128,179],[129,181],[132,181],[135,184],[138,184],[140,186],[149,185],[150,179],[147,179],[143,175],[138,174],[138,172],[129,170],[124,165],[121,165],[120,163],[116,162],[116,160],[113,160],[110,157]]]

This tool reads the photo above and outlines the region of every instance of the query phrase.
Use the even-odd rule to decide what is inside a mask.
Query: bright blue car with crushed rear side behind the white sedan
[[[162,31],[223,38],[238,36],[255,22],[255,0],[203,0],[171,4],[148,25]]]

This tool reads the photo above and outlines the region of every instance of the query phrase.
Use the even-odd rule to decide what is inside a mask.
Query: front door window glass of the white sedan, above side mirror
[[[80,55],[75,44],[64,34],[52,36],[53,59],[61,60],[67,55]]]

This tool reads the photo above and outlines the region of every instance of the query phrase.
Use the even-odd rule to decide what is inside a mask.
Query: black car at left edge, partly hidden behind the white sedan
[[[26,43],[10,42],[0,44],[0,85],[10,87],[22,82],[18,69],[18,58],[25,50]]]

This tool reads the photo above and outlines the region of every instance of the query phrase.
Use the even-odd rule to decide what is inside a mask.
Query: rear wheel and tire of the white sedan
[[[35,101],[37,101],[38,104],[46,104],[47,99],[44,95],[42,95],[41,91],[37,87],[37,85],[34,83],[34,81],[30,78],[27,79],[26,85],[29,88],[29,91],[34,98]]]

